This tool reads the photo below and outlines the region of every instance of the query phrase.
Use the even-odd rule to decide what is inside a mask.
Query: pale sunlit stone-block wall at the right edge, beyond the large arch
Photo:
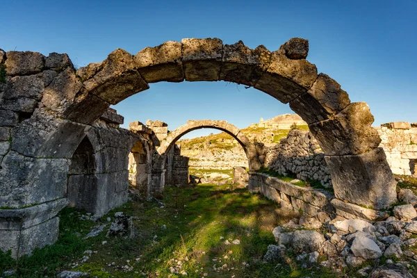
[[[417,174],[417,123],[389,122],[376,128],[394,174]]]

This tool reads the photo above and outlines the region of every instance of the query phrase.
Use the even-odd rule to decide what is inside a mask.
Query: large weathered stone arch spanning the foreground
[[[307,40],[294,38],[271,52],[262,45],[250,49],[241,41],[223,44],[218,38],[183,39],[147,47],[135,56],[117,49],[103,62],[77,71],[67,56],[45,58],[10,51],[13,55],[1,58],[8,78],[60,67],[55,66],[56,76],[44,81],[47,85],[42,97],[37,95],[41,104],[33,115],[11,131],[10,152],[3,158],[2,171],[10,175],[23,171],[13,164],[14,159],[26,159],[21,156],[48,158],[47,162],[55,159],[65,167],[65,159],[75,151],[90,124],[111,104],[147,90],[149,83],[222,80],[252,86],[289,104],[309,124],[326,155],[338,199],[388,208],[396,201],[396,183],[384,152],[378,148],[380,138],[371,127],[373,115],[365,103],[350,103],[347,92],[332,78],[318,74],[316,66],[305,59],[308,46]],[[12,120],[17,117],[9,114]],[[33,169],[42,167],[40,163]],[[26,171],[33,170],[27,167]],[[42,190],[50,188],[44,181],[39,183]],[[18,193],[22,200],[14,206],[40,202],[26,197],[33,196],[28,181],[12,186],[26,190]]]

